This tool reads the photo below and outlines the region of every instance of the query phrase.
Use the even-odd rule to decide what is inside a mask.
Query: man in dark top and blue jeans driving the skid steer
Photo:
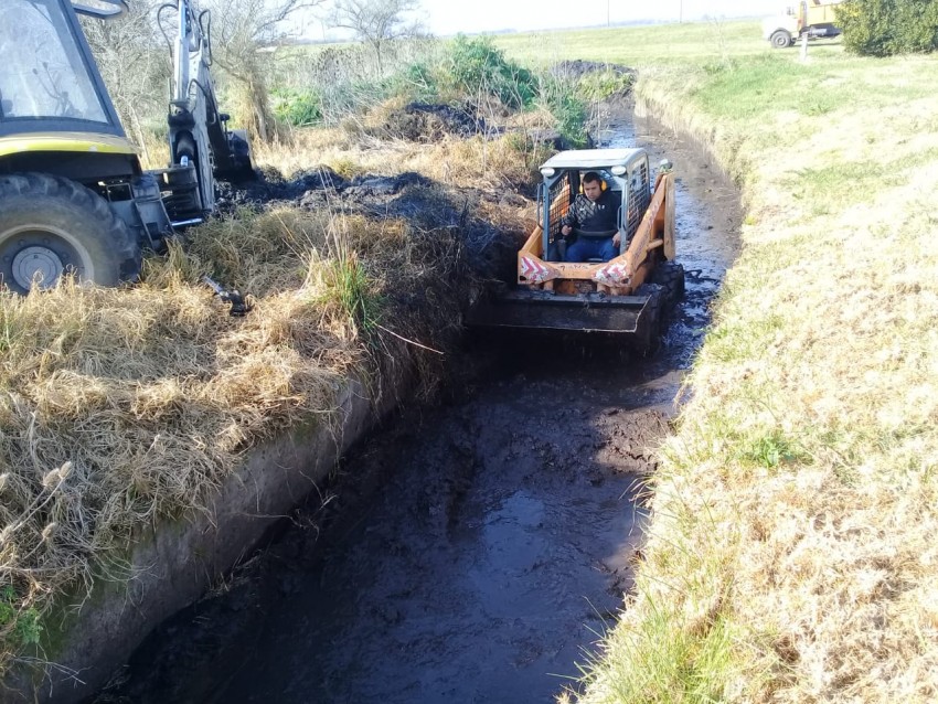
[[[603,177],[588,171],[583,177],[583,192],[561,218],[561,234],[576,239],[567,246],[565,260],[587,262],[603,259],[608,262],[619,254],[619,226],[616,218],[619,203],[609,191],[603,190]]]

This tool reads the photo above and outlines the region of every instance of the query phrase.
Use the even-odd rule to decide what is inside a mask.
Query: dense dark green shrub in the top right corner
[[[836,10],[844,47],[868,56],[938,49],[938,2],[934,0],[848,0]]]

